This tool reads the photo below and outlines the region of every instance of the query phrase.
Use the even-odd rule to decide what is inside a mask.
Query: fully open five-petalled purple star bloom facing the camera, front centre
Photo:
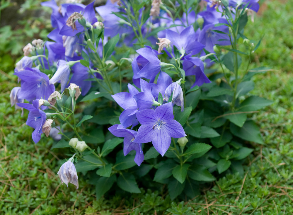
[[[173,120],[171,102],[158,106],[155,110],[138,111],[136,116],[142,126],[139,127],[133,142],[152,142],[155,149],[162,156],[164,156],[171,144],[171,137],[180,138],[186,136],[179,122]]]

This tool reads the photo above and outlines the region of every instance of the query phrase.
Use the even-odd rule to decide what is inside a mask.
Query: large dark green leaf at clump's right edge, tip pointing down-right
[[[258,126],[252,121],[246,121],[240,128],[237,125],[230,123],[231,133],[240,137],[243,140],[263,144],[263,138],[260,134]]]

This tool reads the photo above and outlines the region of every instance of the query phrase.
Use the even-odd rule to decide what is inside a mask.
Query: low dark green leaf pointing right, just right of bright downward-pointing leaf
[[[211,182],[216,178],[202,165],[193,165],[188,169],[188,177],[196,181]]]

